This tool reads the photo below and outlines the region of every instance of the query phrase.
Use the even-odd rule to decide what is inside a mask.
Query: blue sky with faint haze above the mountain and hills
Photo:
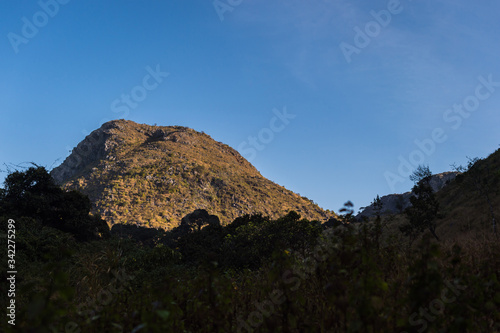
[[[498,148],[499,12],[493,0],[3,0],[0,163],[57,166],[111,119],[183,125],[325,209],[359,208],[409,190],[418,163],[443,172]]]

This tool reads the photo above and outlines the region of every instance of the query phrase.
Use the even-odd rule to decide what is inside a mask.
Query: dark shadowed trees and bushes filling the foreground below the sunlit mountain
[[[169,232],[111,232],[89,215],[86,197],[60,190],[45,169],[14,172],[0,192],[0,221],[3,232],[15,220],[16,325],[2,314],[0,329],[499,332],[500,242],[491,232],[438,238],[425,177],[416,184],[425,200],[399,229],[380,216],[355,223],[347,205],[327,224],[290,212],[221,226],[200,210]]]

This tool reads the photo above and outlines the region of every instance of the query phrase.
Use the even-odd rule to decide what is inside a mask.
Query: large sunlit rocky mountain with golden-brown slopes
[[[326,220],[317,204],[264,178],[236,150],[205,133],[181,126],[127,120],[103,124],[52,170],[66,189],[87,194],[110,224],[170,229],[195,209],[222,223],[290,210]]]

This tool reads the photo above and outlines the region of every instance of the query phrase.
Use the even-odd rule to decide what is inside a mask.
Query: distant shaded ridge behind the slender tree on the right
[[[443,172],[436,175],[432,175],[430,180],[430,185],[434,192],[438,192],[443,189],[446,185],[450,184],[452,180],[455,179],[458,172],[449,171]],[[382,201],[382,213],[383,214],[397,214],[402,213],[410,204],[410,197],[412,192],[406,192],[402,194],[389,194],[384,195],[380,198]],[[375,208],[373,203],[363,209],[361,213],[356,215],[356,218],[372,217],[375,216]]]

